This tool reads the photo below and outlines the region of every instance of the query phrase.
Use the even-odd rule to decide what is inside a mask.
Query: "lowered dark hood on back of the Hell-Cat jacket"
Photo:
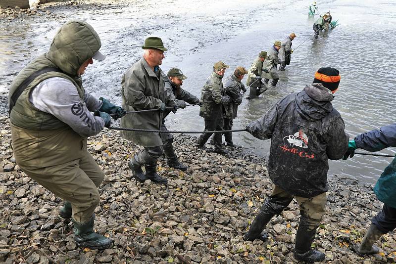
[[[295,103],[298,114],[306,120],[317,121],[333,110],[331,101],[334,96],[322,84],[306,86],[296,95]]]

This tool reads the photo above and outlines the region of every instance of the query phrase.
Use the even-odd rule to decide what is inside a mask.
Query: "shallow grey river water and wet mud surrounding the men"
[[[103,1],[103,0],[102,0]],[[93,2],[93,1],[92,1]],[[295,32],[296,51],[287,71],[280,72],[275,89],[260,98],[244,100],[234,129],[258,119],[286,94],[301,90],[323,66],[335,67],[342,76],[333,105],[343,116],[346,130],[354,135],[395,122],[396,1],[317,1],[321,13],[330,8],[333,21],[341,24],[313,39],[307,15],[309,1],[302,0],[113,0],[111,5],[89,2],[57,6],[56,17],[31,17],[0,21],[0,104],[6,112],[6,93],[15,74],[35,56],[45,52],[65,21],[80,18],[98,31],[103,62],[88,67],[85,88],[96,96],[121,102],[122,73],[142,55],[148,36],[158,36],[169,51],[162,69],[179,67],[189,78],[183,88],[199,96],[212,65],[222,60],[231,67],[248,68],[260,50]],[[124,2],[124,3],[122,3]],[[246,81],[246,78],[243,80]],[[203,130],[199,107],[181,109],[167,120],[169,129]],[[258,140],[246,132],[233,135],[247,152],[267,157],[270,140]],[[395,154],[393,149],[382,151]],[[374,183],[391,158],[355,155],[351,160],[330,162],[329,175],[352,176]]]

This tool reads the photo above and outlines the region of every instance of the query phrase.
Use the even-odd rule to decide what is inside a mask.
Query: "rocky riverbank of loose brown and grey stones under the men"
[[[95,229],[114,240],[104,251],[78,248],[72,223],[58,216],[61,200],[27,177],[12,156],[6,117],[0,117],[0,262],[5,263],[296,263],[298,205],[267,225],[269,239],[243,235],[271,191],[265,160],[241,149],[228,156],[201,151],[195,137],[179,135],[175,147],[187,172],[159,161],[168,186],[137,183],[127,160],[140,149],[105,129],[88,148],[105,173]],[[396,234],[377,243],[380,254],[361,259],[351,250],[381,210],[371,188],[354,179],[329,179],[327,214],[312,247],[324,263],[395,263]]]

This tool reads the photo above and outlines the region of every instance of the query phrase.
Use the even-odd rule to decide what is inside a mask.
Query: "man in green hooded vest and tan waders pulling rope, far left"
[[[91,249],[110,248],[112,240],[94,232],[104,173],[87,151],[87,137],[110,126],[109,114],[114,119],[125,115],[124,109],[94,98],[82,85],[81,75],[92,59],[105,58],[100,46],[88,23],[66,22],[49,51],[16,76],[8,95],[17,164],[65,200],[59,215],[72,219],[76,244]]]

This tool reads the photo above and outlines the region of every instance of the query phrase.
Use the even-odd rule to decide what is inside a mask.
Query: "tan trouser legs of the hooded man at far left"
[[[100,201],[98,187],[104,173],[88,151],[77,160],[46,168],[22,171],[56,196],[72,205],[72,218],[80,223],[91,220]]]

